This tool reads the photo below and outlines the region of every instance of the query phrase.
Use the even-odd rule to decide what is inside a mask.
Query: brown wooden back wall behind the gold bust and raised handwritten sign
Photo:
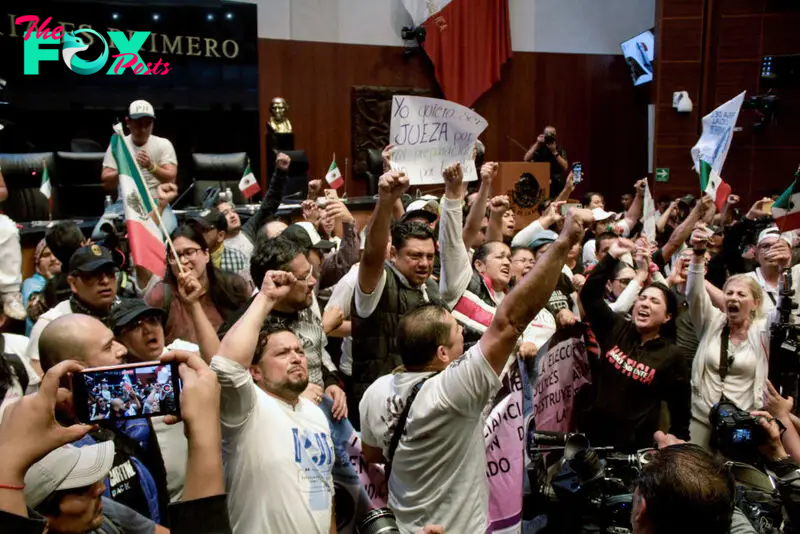
[[[396,47],[261,39],[259,62],[262,124],[270,100],[286,98],[295,144],[307,152],[314,177],[324,174],[333,152],[343,172],[344,157],[351,157],[354,85],[441,95],[427,59],[404,59]],[[634,88],[622,56],[515,52],[474,108],[489,122],[482,140],[490,160],[521,161],[524,151],[509,138],[527,147],[553,124],[569,160],[583,163],[581,189],[603,190],[613,206],[647,171],[649,101],[649,88]],[[345,187],[349,196],[366,190],[352,179]]]

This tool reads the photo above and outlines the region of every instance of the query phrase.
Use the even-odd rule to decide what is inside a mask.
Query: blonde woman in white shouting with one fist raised
[[[692,234],[694,256],[686,296],[700,343],[692,363],[692,443],[711,448],[709,414],[724,396],[748,412],[763,405],[769,362],[769,324],[761,312],[764,293],[753,278],[731,276],[723,286],[723,309],[705,288],[705,252],[710,233]]]

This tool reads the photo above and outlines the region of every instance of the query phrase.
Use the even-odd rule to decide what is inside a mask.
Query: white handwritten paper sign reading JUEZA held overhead
[[[472,152],[486,119],[455,102],[420,96],[392,98],[391,166],[411,185],[444,183],[442,171],[461,163],[464,181],[478,179]]]

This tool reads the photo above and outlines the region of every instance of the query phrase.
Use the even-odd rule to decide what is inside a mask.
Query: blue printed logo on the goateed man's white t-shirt
[[[308,507],[327,510],[331,506],[334,455],[324,432],[292,428],[294,461],[300,467],[300,480],[307,485]]]

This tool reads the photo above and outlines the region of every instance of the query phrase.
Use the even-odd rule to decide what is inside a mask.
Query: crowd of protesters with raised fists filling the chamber
[[[153,117],[127,123],[166,206],[174,151],[157,138],[142,155]],[[709,417],[723,397],[760,417],[765,465],[797,500],[800,420],[767,379],[779,278],[800,269],[796,234],[771,224],[768,199],[742,213],[731,195],[717,213],[707,197],[659,198],[648,215],[646,180],[622,211],[601,192],[564,210],[575,185],[554,139],[548,127],[527,159],[557,166],[557,195],[519,229],[482,154],[478,182],[455,164],[442,198],[409,203],[388,152],[364,228],[344,201],[320,207],[317,180],[302,220],[277,217],[290,164],[279,154],[246,222],[222,198],[172,229],[164,273],[133,268],[108,233],[53,225],[31,278],[20,261],[0,265],[12,280],[0,327],[24,320],[28,335],[0,337],[0,530],[336,532],[329,399],[366,461],[385,465],[401,532],[483,533],[486,406],[510,363],[577,323],[599,351],[572,430],[620,452],[663,447],[638,483],[634,532],[748,532],[714,456]],[[106,165],[103,182],[116,179]],[[19,256],[18,237],[16,248],[3,254]],[[180,420],[138,417],[174,404],[168,382],[111,378],[88,384],[100,424],[76,419],[71,374],[172,361]]]

